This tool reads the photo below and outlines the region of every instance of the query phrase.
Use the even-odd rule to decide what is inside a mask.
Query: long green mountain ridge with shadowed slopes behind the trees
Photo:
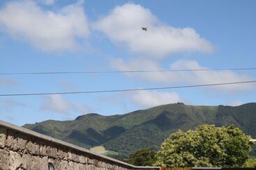
[[[256,138],[256,103],[236,107],[176,103],[122,115],[85,114],[73,121],[49,120],[26,124],[24,128],[85,148],[102,145],[125,158],[139,148],[158,149],[171,133],[199,124],[234,124]]]

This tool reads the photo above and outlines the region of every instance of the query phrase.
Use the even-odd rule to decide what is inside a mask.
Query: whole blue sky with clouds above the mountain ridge
[[[108,74],[3,73],[251,68],[256,1],[0,1],[0,94],[124,90],[256,80],[255,70]],[[141,27],[147,27],[142,31]],[[22,126],[156,105],[241,105],[256,84],[98,94],[0,96]]]

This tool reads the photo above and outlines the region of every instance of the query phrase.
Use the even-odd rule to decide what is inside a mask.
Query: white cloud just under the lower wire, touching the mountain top
[[[130,100],[144,108],[180,102],[176,92],[137,91],[129,94]]]

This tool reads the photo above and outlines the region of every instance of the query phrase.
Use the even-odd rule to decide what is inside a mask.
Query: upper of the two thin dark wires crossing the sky
[[[10,72],[0,75],[29,75],[29,74],[116,74],[116,73],[146,73],[146,72],[175,72],[175,71],[228,71],[228,70],[256,70],[252,68],[229,69],[160,69],[160,70],[126,70],[126,71],[50,71],[50,72]]]

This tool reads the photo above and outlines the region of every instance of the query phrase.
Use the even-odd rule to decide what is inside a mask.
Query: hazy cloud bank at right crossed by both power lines
[[[143,63],[143,65],[142,65]],[[161,70],[163,69],[158,62],[152,60],[133,59],[124,62],[122,59],[112,59],[110,62],[112,68],[125,70]],[[195,60],[177,60],[170,65],[168,69],[209,69],[202,67]],[[145,80],[151,83],[165,83],[166,85],[183,84],[211,84],[211,83],[230,83],[252,80],[250,76],[243,74],[236,74],[234,71],[173,71],[173,72],[150,72],[143,74],[128,74],[127,76]],[[232,92],[237,90],[250,90],[253,88],[251,84],[237,84],[237,85],[220,85],[212,86],[216,90],[223,90]]]

